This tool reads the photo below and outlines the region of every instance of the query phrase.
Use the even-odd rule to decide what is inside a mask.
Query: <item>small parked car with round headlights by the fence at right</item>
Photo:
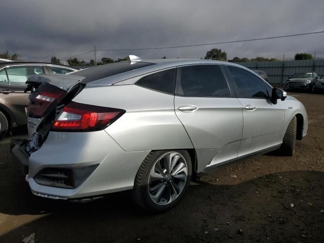
[[[285,90],[307,90],[314,92],[315,83],[319,76],[315,72],[296,72],[289,77],[285,86]]]

